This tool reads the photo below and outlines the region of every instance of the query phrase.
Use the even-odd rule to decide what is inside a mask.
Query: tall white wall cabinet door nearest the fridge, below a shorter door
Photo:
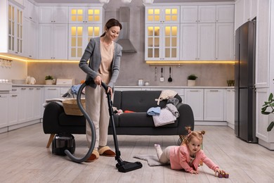
[[[216,23],[216,61],[234,61],[234,24]]]

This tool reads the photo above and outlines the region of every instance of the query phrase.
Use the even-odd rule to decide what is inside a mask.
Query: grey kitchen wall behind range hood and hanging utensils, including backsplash
[[[186,77],[194,73],[198,76],[197,85],[200,86],[227,86],[226,80],[234,79],[234,65],[232,64],[183,64],[180,67],[172,66],[173,82],[167,82],[169,67],[164,67],[164,82],[159,82],[161,67],[157,66],[157,80],[155,81],[155,66],[145,63],[145,7],[142,1],[131,1],[131,4],[122,4],[121,1],[110,1],[105,5],[105,20],[117,18],[119,7],[129,6],[131,11],[130,39],[137,53],[123,53],[117,85],[136,85],[138,79],[150,82],[157,86],[185,86]],[[28,63],[27,75],[36,78],[37,84],[44,84],[46,75],[56,78],[74,78],[75,84],[85,79],[77,63]]]

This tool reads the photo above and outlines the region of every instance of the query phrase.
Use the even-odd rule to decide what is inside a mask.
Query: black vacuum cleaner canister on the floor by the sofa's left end
[[[52,153],[65,156],[65,150],[74,153],[75,139],[72,134],[56,134],[52,142]]]

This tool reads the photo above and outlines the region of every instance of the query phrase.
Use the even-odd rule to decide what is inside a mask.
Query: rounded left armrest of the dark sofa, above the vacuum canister
[[[45,134],[53,134],[59,129],[59,115],[64,108],[56,102],[48,103],[43,115],[43,130]]]

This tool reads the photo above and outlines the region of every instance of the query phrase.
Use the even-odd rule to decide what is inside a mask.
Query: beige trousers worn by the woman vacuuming
[[[98,146],[107,145],[107,130],[110,122],[110,114],[108,112],[107,94],[103,87],[86,86],[86,113],[89,114],[96,129],[96,143],[94,149],[98,150]],[[88,146],[91,146],[91,127],[86,121],[86,139]]]

